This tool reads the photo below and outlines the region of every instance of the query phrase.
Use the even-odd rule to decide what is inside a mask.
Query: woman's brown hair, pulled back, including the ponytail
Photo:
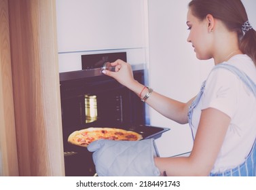
[[[240,0],[192,0],[189,7],[200,20],[211,14],[221,20],[227,29],[236,31],[240,39],[240,50],[251,57],[256,65],[256,31],[250,29],[245,34],[242,32],[242,25],[248,20],[248,16]]]

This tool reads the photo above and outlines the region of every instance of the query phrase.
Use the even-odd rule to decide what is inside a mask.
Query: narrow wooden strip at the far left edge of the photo
[[[8,0],[0,0],[0,176],[18,176]]]

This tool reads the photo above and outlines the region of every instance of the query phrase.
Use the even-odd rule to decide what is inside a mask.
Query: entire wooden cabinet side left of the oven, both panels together
[[[56,3],[0,3],[0,174],[64,176]]]

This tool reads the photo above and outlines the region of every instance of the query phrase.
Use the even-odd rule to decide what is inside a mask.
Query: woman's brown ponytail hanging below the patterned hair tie
[[[256,31],[254,29],[246,31],[240,40],[240,50],[253,60],[256,67]]]

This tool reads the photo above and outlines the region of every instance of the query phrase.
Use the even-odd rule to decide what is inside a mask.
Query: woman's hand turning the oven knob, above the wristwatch
[[[115,71],[104,70],[103,73],[109,77],[113,77],[119,83],[131,89],[136,81],[133,77],[130,64],[119,59],[115,62],[111,62],[111,66],[115,67]]]

